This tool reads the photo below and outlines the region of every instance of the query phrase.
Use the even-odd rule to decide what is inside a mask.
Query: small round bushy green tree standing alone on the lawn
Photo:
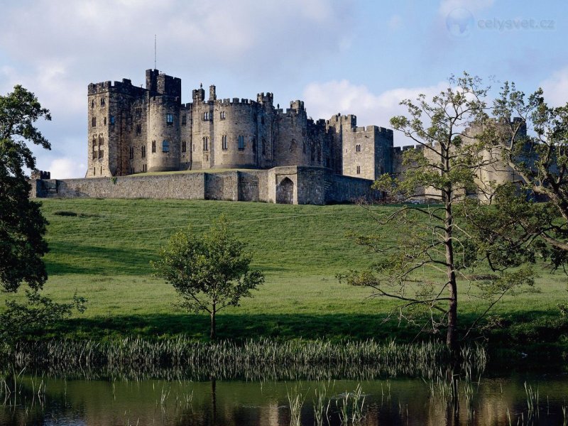
[[[173,234],[152,262],[156,275],[173,285],[182,307],[209,313],[211,339],[217,334],[217,312],[239,306],[241,297],[252,297],[251,290],[264,283],[260,271],[249,269],[252,254],[244,249],[221,217],[202,236],[192,229]]]

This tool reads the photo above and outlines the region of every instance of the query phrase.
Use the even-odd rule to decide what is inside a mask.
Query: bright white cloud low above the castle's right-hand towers
[[[447,82],[428,87],[400,87],[373,94],[363,84],[353,84],[348,80],[308,84],[304,90],[304,100],[309,114],[314,119],[329,119],[334,114],[354,114],[358,126],[376,125],[390,127],[391,117],[405,114],[406,107],[400,105],[403,99],[416,99],[418,94],[425,94],[431,99],[448,86]],[[395,145],[409,141],[395,133]]]

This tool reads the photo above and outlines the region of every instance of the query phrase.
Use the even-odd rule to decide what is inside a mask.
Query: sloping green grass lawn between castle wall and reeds
[[[397,321],[383,323],[395,302],[366,298],[367,289],[351,288],[334,278],[373,261],[371,253],[345,236],[349,230],[377,230],[375,219],[362,207],[186,200],[42,203],[50,222],[46,236],[50,253],[45,257],[50,278],[45,293],[55,300],[69,300],[77,292],[89,300],[87,311],[62,324],[55,331],[59,335],[184,333],[206,338],[208,318],[175,310],[173,288],[153,278],[149,262],[174,231],[188,225],[205,230],[219,214],[225,214],[236,235],[249,244],[253,266],[266,273],[266,284],[253,299],[219,314],[219,337],[407,339],[416,334],[417,329],[404,322],[400,327]],[[375,207],[373,212],[393,209]],[[382,232],[386,244],[393,242],[392,231]],[[503,339],[517,333],[520,343],[543,339],[542,330],[559,319],[557,303],[568,298],[565,278],[543,269],[535,292],[505,297],[495,314],[506,328],[495,335]],[[461,288],[462,324],[473,321],[484,306]],[[558,338],[555,334],[550,339]]]

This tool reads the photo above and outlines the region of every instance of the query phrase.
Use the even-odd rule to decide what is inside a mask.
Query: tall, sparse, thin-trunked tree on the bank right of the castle
[[[420,197],[437,204],[406,204],[382,218],[381,226],[398,235],[397,241],[387,244],[377,235],[358,236],[359,244],[381,256],[366,271],[350,271],[341,277],[351,285],[372,288],[373,296],[400,300],[401,317],[408,317],[411,310],[425,309],[428,320],[422,330],[444,327],[446,344],[454,354],[458,279],[468,287],[481,288],[481,297],[490,307],[511,288],[532,284],[529,268],[514,273],[469,273],[486,258],[486,252],[458,221],[457,206],[477,191],[481,169],[493,161],[484,157],[484,140],[469,130],[483,127],[488,119],[487,91],[478,77],[464,73],[463,77],[451,77],[449,87],[431,102],[424,94],[417,102],[401,102],[408,115],[393,117],[391,125],[418,148],[405,152],[400,176],[382,175],[373,186],[386,194],[386,202]]]

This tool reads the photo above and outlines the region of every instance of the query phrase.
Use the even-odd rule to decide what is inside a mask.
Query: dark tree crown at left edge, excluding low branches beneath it
[[[35,95],[21,86],[0,96],[0,287],[16,292],[22,282],[34,290],[43,287],[47,273],[42,256],[48,251],[43,239],[47,222],[40,204],[29,199],[31,185],[25,168],[35,168],[26,143],[50,149],[35,128],[38,119],[50,120]]]

